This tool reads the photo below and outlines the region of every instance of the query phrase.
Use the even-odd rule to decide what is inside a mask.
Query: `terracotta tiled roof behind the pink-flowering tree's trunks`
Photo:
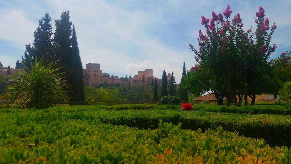
[[[237,97],[238,99],[238,97]],[[214,96],[214,93],[208,93],[207,95],[203,95],[201,97],[197,97],[194,99],[195,101],[202,101],[202,100],[209,100],[209,101],[217,101],[217,99]],[[224,97],[223,100],[226,100]],[[242,100],[244,100],[244,96],[242,97]],[[248,101],[251,102],[251,97],[248,96]],[[274,98],[267,98],[267,94],[262,95],[255,95],[255,102],[264,101],[264,102],[276,102]]]

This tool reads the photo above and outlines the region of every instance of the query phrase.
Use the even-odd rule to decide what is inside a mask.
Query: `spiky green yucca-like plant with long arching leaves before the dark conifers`
[[[22,108],[44,109],[55,104],[65,104],[68,96],[64,88],[68,83],[63,81],[63,74],[59,73],[60,67],[56,63],[45,62],[44,58],[24,70],[15,70],[10,76],[10,83],[15,89],[15,101],[23,102]]]

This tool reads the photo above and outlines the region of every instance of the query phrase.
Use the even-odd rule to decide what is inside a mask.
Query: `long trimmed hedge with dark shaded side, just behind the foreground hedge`
[[[172,106],[174,107],[174,106]],[[249,115],[232,113],[213,113],[207,111],[182,111],[181,109],[147,109],[147,110],[104,110],[93,106],[63,106],[33,111],[33,109],[0,109],[0,114],[7,113],[19,125],[36,113],[37,120],[47,120],[51,115],[70,119],[98,119],[102,123],[128,125],[139,129],[155,129],[160,119],[174,124],[182,123],[183,129],[202,130],[219,126],[225,130],[238,131],[247,137],[263,138],[271,146],[291,146],[291,116],[283,115]],[[11,113],[11,114],[10,114]],[[21,115],[20,115],[21,113]],[[19,114],[18,117],[15,114]],[[1,117],[0,117],[1,118]],[[1,118],[1,120],[5,120]],[[8,128],[9,129],[9,128]],[[0,133],[0,136],[5,134]]]

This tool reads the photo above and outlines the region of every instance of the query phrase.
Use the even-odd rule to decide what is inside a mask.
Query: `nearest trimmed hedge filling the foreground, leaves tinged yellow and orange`
[[[93,111],[83,112],[68,107],[1,110],[0,163],[291,162],[291,148],[271,148],[263,139],[221,127],[203,133],[160,120],[157,129],[139,130],[84,119]]]

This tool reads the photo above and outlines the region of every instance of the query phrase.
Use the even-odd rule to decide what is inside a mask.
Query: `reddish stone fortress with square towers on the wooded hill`
[[[170,80],[170,74],[167,76],[168,81]],[[109,77],[108,73],[103,72],[100,69],[99,63],[88,63],[86,64],[86,69],[83,69],[83,79],[84,83],[88,86],[97,87],[100,84],[107,81],[108,85],[127,85],[129,83],[131,86],[136,86],[138,84],[151,85],[152,80],[155,81],[155,77],[152,76],[152,69],[145,69],[145,71],[138,71],[137,75],[133,77],[128,77],[128,81],[121,80],[116,77]],[[157,78],[157,83],[161,82],[162,79]]]

